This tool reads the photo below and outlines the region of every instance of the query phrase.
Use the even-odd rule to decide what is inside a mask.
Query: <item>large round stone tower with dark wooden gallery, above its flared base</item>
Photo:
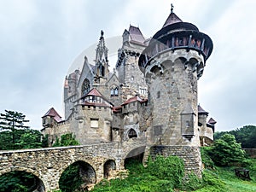
[[[148,143],[199,146],[197,80],[212,53],[212,40],[173,13],[139,58],[148,84],[152,119]]]

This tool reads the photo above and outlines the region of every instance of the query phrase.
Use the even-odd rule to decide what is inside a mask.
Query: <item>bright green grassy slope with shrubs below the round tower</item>
[[[104,180],[97,184],[92,191],[112,192],[167,192],[167,191],[196,191],[196,192],[256,192],[256,160],[247,160],[247,168],[250,170],[251,181],[245,181],[236,177],[234,166],[214,167],[203,172],[203,179],[199,180],[190,175],[189,182],[182,182],[174,185],[171,179],[160,178],[152,175],[148,168],[133,163],[128,166],[129,176],[125,179]],[[155,170],[160,172],[160,170]]]

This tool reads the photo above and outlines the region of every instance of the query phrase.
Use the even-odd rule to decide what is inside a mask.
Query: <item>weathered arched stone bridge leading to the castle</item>
[[[125,159],[144,152],[145,142],[100,143],[59,148],[0,151],[0,175],[30,172],[39,191],[59,189],[61,173],[73,163],[83,166],[88,183],[98,183],[108,171],[124,170]]]

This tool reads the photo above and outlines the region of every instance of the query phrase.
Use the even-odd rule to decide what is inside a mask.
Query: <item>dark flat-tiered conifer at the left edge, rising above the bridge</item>
[[[5,113],[0,113],[0,129],[1,131],[10,131],[12,144],[15,145],[16,135],[18,130],[28,129],[25,123],[29,120],[25,119],[26,115],[19,112],[5,110]]]

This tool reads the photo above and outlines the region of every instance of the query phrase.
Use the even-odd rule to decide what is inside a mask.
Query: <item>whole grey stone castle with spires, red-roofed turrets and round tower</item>
[[[216,121],[207,120],[197,96],[211,38],[173,9],[153,38],[131,25],[122,37],[113,73],[102,32],[95,63],[84,56],[82,70],[68,74],[65,118],[54,108],[42,118],[49,144],[66,133],[81,144],[140,140],[149,147],[189,148],[212,143]]]

